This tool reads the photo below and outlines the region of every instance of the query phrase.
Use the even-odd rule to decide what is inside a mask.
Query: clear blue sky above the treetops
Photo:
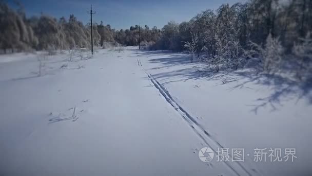
[[[230,5],[246,0],[19,0],[27,16],[40,15],[41,12],[54,17],[65,16],[68,19],[74,14],[84,24],[90,21],[87,11],[91,4],[96,14],[93,22],[110,24],[115,29],[126,29],[131,25],[141,23],[150,28],[162,28],[167,22],[181,23],[189,21],[191,17],[205,9],[216,10],[220,5]],[[13,0],[7,1],[13,6]]]

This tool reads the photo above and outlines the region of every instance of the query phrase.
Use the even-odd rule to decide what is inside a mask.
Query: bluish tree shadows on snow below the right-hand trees
[[[195,57],[193,63],[190,63],[190,57],[183,54],[172,54],[166,56],[166,53],[161,51],[142,52],[141,55],[158,54],[164,55],[163,58],[150,59],[150,63],[159,63],[160,67],[154,67],[151,69],[172,68],[171,71],[163,71],[159,74],[154,74],[155,79],[159,79],[162,84],[168,84],[171,82],[187,81],[190,79],[205,79],[205,80],[220,80],[220,85],[231,82],[237,84],[231,86],[228,91],[235,89],[251,89],[248,87],[249,83],[265,86],[270,90],[270,94],[266,97],[259,97],[255,100],[254,104],[249,104],[252,107],[251,112],[255,114],[258,110],[269,106],[271,112],[278,110],[278,107],[283,107],[284,101],[296,99],[296,103],[306,98],[308,103],[312,104],[312,78],[305,82],[298,82],[296,80],[282,77],[278,74],[268,75],[260,73],[255,69],[241,69],[233,72],[220,71],[214,73],[211,68],[205,63],[196,61]],[[182,66],[173,68],[174,66]],[[173,70],[173,71],[172,71]],[[234,83],[235,84],[235,83]],[[294,105],[296,105],[296,103]]]

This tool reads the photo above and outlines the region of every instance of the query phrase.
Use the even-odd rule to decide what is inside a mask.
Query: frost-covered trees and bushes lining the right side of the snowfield
[[[311,30],[312,0],[250,0],[205,10],[189,22],[169,22],[149,48],[186,49],[215,72],[254,61],[265,73],[286,68],[312,81]]]

